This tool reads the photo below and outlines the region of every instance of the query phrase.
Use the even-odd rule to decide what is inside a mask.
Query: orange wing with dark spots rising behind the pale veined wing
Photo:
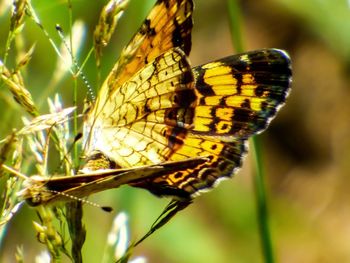
[[[192,12],[192,0],[158,0],[139,31],[124,48],[106,86],[113,90],[123,85],[147,63],[173,47],[180,47],[189,55]]]

